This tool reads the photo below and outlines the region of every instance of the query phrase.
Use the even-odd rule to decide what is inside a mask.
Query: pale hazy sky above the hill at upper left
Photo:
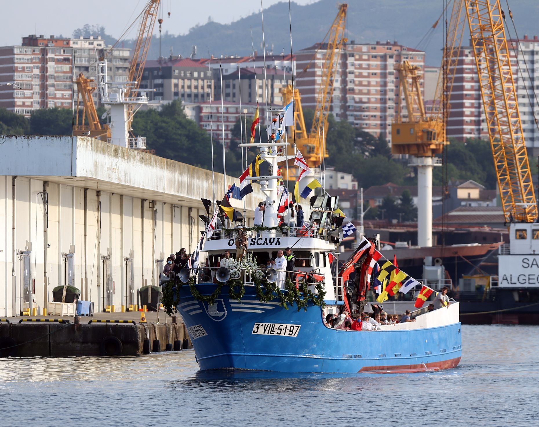
[[[108,34],[118,38],[135,20],[148,0],[110,0],[81,2],[77,0],[23,0],[21,3],[0,1],[0,46],[20,44],[30,34],[71,37],[74,29],[84,24],[99,24]],[[264,8],[282,0],[262,0]],[[315,0],[294,0],[299,4]],[[161,0],[163,32],[185,34],[196,24],[205,24],[211,16],[215,22],[227,24],[260,10],[260,0]],[[170,11],[170,18],[167,12]],[[12,18],[9,18],[12,17]],[[157,25],[155,26],[157,29]],[[136,29],[126,38],[134,38]]]

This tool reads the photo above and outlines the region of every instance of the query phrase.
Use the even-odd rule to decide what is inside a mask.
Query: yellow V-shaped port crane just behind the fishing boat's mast
[[[326,55],[322,60],[321,83],[319,91],[316,94],[316,108],[310,132],[307,132],[307,127],[305,126],[299,90],[293,88],[292,85],[288,85],[283,90],[287,103],[294,99],[295,129],[293,132],[295,132],[295,135],[292,134],[292,136],[295,136],[296,147],[301,151],[301,154],[311,168],[319,167],[321,157],[328,156],[326,151],[327,118],[331,107],[331,99],[333,99],[334,80],[335,77],[338,78],[336,73],[340,60],[339,56],[343,45],[348,41],[344,37],[347,9],[348,4],[346,3],[338,6],[337,16],[333,24],[331,24],[326,37],[324,37],[324,41],[321,43],[321,49],[326,47]],[[308,70],[315,58],[303,69],[303,72]],[[291,169],[291,173],[293,173],[293,169]],[[296,177],[289,176],[288,178],[295,179]]]

